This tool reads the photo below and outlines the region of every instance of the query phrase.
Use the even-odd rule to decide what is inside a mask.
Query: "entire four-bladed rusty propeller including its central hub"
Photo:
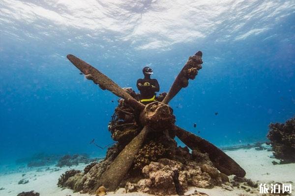
[[[175,116],[168,103],[182,88],[187,87],[188,80],[194,79],[198,71],[202,69],[202,55],[202,52],[198,51],[193,56],[189,57],[162,102],[155,101],[147,105],[137,101],[120,88],[113,80],[85,61],[72,54],[67,55],[67,58],[86,75],[87,79],[98,84],[101,89],[108,90],[127,101],[127,103],[134,108],[136,113],[140,115],[140,123],[144,127],[141,132],[123,148],[107,170],[102,174],[102,177],[98,180],[93,189],[93,193],[95,193],[96,189],[101,185],[104,185],[111,191],[116,190],[121,180],[131,168],[134,157],[143,146],[148,132],[158,129],[174,130],[176,131],[177,137],[187,147],[191,149],[198,148],[202,152],[207,152],[210,160],[220,172],[227,175],[235,174],[238,177],[245,176],[246,172],[221,149],[174,124]]]

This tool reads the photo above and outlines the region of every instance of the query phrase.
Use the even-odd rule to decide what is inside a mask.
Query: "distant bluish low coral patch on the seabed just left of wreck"
[[[79,163],[88,164],[88,163],[96,161],[96,160],[97,159],[89,158],[89,156],[86,154],[83,154],[83,155],[74,154],[73,156],[67,154],[59,159],[57,167],[60,167],[60,168],[64,167],[64,166],[70,167],[73,165],[79,165]]]

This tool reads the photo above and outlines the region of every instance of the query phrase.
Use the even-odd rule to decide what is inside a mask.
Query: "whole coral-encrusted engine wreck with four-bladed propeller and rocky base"
[[[137,190],[150,194],[181,195],[188,185],[212,188],[228,182],[227,175],[245,175],[245,171],[222,150],[174,124],[175,116],[168,103],[188,86],[189,79],[194,79],[202,68],[201,51],[189,57],[169,93],[160,94],[157,101],[147,105],[138,101],[139,95],[131,88],[120,88],[106,75],[74,55],[69,54],[67,58],[101,89],[122,98],[108,126],[113,140],[118,143],[108,148],[106,158],[89,172],[74,176],[76,181],[71,182],[75,184],[74,191],[95,194],[103,185],[109,191],[125,187],[127,192]],[[187,147],[177,147],[175,136]],[[151,161],[151,157],[145,161],[136,160],[146,155],[143,147],[152,148],[151,145],[145,146],[149,141],[163,145],[163,149],[167,150],[165,158],[161,158],[161,150],[161,153],[155,153],[159,155],[155,158],[158,160]],[[132,172],[136,169],[135,165],[139,168],[146,166],[141,172]]]

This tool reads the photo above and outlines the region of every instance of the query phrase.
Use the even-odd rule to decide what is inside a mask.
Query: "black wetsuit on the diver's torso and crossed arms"
[[[144,84],[148,82],[150,85],[149,86],[144,86]],[[142,84],[141,86],[139,85]],[[140,99],[148,99],[148,98],[153,98],[155,96],[155,92],[160,91],[160,86],[159,83],[156,79],[151,79],[150,75],[145,74],[144,79],[138,79],[136,86],[138,90],[140,91]],[[154,86],[154,87],[152,87]],[[147,102],[146,102],[147,103]]]

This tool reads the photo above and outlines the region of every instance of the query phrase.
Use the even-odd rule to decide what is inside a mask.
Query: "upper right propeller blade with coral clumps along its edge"
[[[162,101],[165,104],[168,104],[169,101],[174,98],[177,93],[182,89],[187,87],[188,79],[195,79],[198,71],[202,69],[202,52],[198,51],[195,55],[190,56],[188,61],[183,66],[182,70],[178,73],[176,79],[174,80],[172,87],[169,90],[169,93],[166,95]]]

